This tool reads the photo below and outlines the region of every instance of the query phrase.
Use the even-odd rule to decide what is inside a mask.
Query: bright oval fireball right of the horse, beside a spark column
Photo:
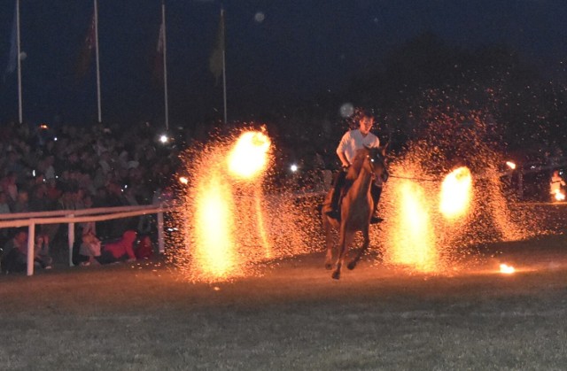
[[[461,218],[469,211],[471,193],[470,170],[457,168],[441,184],[439,211],[450,220]]]

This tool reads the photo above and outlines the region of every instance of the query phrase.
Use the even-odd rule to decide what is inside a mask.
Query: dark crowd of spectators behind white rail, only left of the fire
[[[170,189],[179,151],[156,140],[149,123],[128,128],[8,123],[0,126],[0,213],[149,205]],[[77,234],[101,240],[128,229],[151,233],[151,220],[133,218],[83,223]],[[66,226],[38,225],[51,250],[66,246]],[[0,247],[15,228],[0,228]],[[80,243],[80,241],[79,241]],[[47,266],[47,265],[46,265]],[[50,266],[50,264],[49,264]]]

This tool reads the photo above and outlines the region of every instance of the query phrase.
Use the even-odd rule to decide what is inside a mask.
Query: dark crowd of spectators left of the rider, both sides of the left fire
[[[298,112],[268,124],[268,134],[276,141],[276,185],[313,190],[330,185],[330,171],[336,167],[334,143],[346,122],[337,125],[308,117]],[[296,126],[303,129],[292,135],[294,127],[286,130],[289,125],[281,120],[297,121]],[[150,205],[171,193],[180,151],[192,140],[206,140],[205,127],[192,133],[180,131],[174,144],[161,143],[160,134],[162,128],[148,122],[122,127],[0,124],[0,214]],[[292,165],[296,172],[291,171]],[[152,221],[139,217],[77,224],[79,263],[97,264],[105,256],[105,243],[118,240],[128,230],[135,230],[144,242],[144,257],[151,256]],[[0,249],[18,233],[16,228],[0,228]],[[60,255],[66,252],[66,233],[66,225],[57,224],[38,225],[35,230],[35,236],[49,241],[51,253]],[[132,259],[131,251],[127,255]]]

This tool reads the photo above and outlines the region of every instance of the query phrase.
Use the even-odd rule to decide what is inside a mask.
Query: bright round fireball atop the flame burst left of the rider
[[[229,172],[238,178],[252,179],[265,170],[268,163],[270,140],[258,131],[240,135],[227,158]]]

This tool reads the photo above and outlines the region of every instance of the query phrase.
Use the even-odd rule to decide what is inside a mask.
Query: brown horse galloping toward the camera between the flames
[[[370,186],[372,182],[375,181],[378,185],[381,185],[381,183],[386,182],[388,179],[388,170],[385,166],[386,147],[387,144],[381,148],[364,148],[356,153],[353,159],[353,165],[350,166],[346,174],[347,184],[352,185],[346,191],[345,196],[342,197],[340,221],[332,219],[326,214],[330,211],[332,189],[323,202],[322,225],[325,229],[325,240],[327,244],[327,256],[325,259],[325,267],[327,269],[333,267],[334,243],[332,229],[338,229],[339,232],[338,257],[335,271],[332,274],[332,278],[336,280],[340,278],[340,269],[343,264],[345,264],[347,248],[353,242],[354,234],[357,231],[362,232],[364,243],[356,257],[348,264],[349,269],[356,267],[356,263],[369,247],[370,218],[374,210],[374,201],[370,195]]]

